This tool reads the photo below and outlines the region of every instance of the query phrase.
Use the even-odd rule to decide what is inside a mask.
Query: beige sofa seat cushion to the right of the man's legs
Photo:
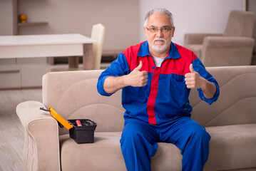
[[[256,124],[215,126],[206,130],[212,138],[204,170],[256,167]]]

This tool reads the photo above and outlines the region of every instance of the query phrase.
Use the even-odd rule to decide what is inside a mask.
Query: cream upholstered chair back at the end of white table
[[[101,68],[101,55],[103,49],[103,42],[105,38],[106,28],[102,24],[95,24],[91,30],[91,38],[96,40],[93,43],[93,69],[99,70]]]

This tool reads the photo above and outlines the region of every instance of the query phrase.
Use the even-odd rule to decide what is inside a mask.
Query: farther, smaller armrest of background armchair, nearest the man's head
[[[190,44],[203,44],[203,39],[207,36],[222,36],[217,33],[186,33],[184,36],[184,46]]]

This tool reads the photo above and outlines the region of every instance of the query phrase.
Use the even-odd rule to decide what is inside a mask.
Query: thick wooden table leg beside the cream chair
[[[93,69],[93,44],[83,44],[83,70]]]

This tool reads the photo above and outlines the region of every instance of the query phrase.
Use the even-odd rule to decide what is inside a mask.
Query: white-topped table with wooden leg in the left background
[[[0,58],[83,56],[83,69],[90,70],[95,42],[81,34],[0,36]]]

